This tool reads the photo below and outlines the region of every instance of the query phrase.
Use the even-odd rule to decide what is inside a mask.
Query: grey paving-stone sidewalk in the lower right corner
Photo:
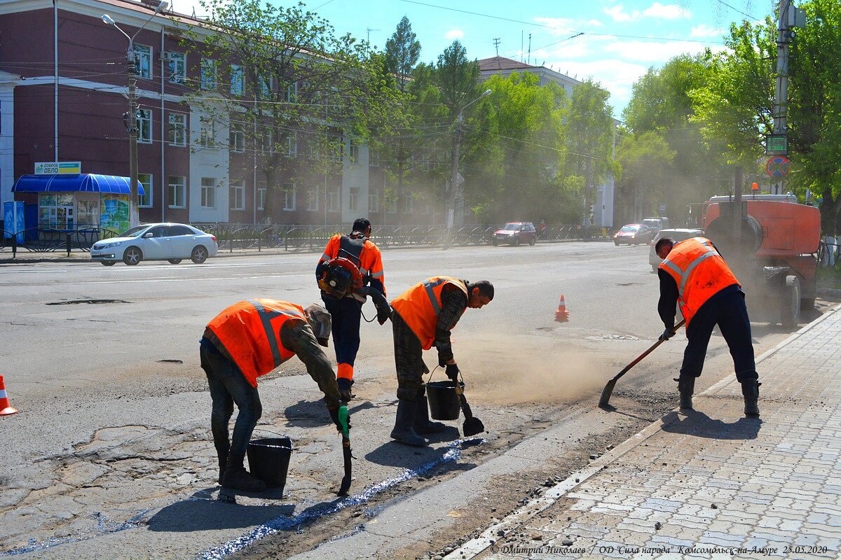
[[[841,557],[838,309],[447,558]]]

